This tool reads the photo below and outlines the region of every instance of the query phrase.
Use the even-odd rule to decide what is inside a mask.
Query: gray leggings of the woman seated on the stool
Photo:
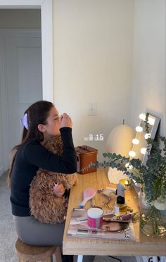
[[[41,223],[33,216],[13,216],[18,237],[26,244],[34,246],[63,245],[65,223]]]

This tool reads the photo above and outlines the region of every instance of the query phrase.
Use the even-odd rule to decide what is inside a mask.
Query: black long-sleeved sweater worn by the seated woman
[[[29,140],[18,149],[11,173],[10,200],[13,215],[30,216],[30,183],[39,168],[66,174],[76,172],[77,157],[72,142],[72,128],[61,127],[60,135],[63,141],[61,156],[52,154],[36,140]]]

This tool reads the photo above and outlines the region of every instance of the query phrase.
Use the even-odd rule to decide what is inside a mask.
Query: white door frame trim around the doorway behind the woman
[[[43,99],[53,102],[53,3],[52,0],[0,0],[0,8],[41,9]]]

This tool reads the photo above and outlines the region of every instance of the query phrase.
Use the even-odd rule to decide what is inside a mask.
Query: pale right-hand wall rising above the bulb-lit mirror
[[[134,1],[134,54],[131,125],[148,111],[161,119],[166,135],[165,0]]]

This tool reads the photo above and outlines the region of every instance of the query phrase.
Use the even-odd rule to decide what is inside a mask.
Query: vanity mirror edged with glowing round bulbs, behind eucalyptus
[[[132,158],[139,158],[143,164],[147,160],[147,151],[146,151],[146,139],[151,137],[155,138],[155,134],[158,130],[158,125],[160,123],[160,118],[156,118],[151,114],[148,115],[149,123],[149,133],[146,132],[146,113],[141,113],[139,115],[139,125],[136,127],[136,137],[132,139],[132,151],[129,151],[130,160]]]

